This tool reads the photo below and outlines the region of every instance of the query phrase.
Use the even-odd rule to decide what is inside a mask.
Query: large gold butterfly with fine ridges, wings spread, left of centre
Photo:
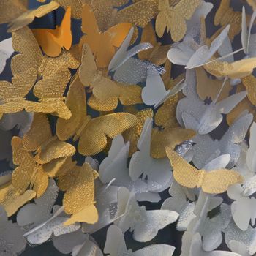
[[[60,140],[68,140],[75,135],[78,152],[84,156],[99,153],[107,145],[107,136],[113,138],[137,124],[138,120],[129,113],[112,113],[91,118],[86,113],[86,94],[77,75],[67,93],[66,104],[71,110],[69,120],[58,118],[56,134]]]

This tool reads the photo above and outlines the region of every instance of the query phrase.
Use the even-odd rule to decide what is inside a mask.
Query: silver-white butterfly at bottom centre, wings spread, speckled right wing
[[[114,223],[123,232],[133,231],[133,238],[136,241],[146,242],[157,236],[159,230],[176,222],[178,213],[168,210],[147,211],[145,206],[138,206],[134,192],[120,187],[116,219]]]

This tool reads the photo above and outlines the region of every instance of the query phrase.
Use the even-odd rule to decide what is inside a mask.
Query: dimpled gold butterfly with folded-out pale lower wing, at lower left
[[[94,179],[98,177],[98,173],[89,163],[85,163],[83,166],[76,166],[72,170],[72,176],[74,182],[63,198],[64,211],[72,214],[72,217],[64,222],[64,225],[75,222],[94,224],[99,219],[97,208],[94,206]]]

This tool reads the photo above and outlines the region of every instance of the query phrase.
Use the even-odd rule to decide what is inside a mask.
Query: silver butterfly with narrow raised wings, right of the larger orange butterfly
[[[157,71],[159,75],[165,72],[163,67],[156,66],[149,61],[141,61],[140,59],[133,58],[137,53],[153,48],[153,45],[150,43],[143,42],[127,50],[132,39],[133,31],[134,29],[132,27],[108,65],[108,70],[115,72],[113,76],[114,80],[121,83],[137,84],[144,82],[146,81],[149,70],[151,72]]]

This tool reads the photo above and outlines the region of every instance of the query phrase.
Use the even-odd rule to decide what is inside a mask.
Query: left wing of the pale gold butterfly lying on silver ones
[[[166,148],[165,150],[170,164],[173,167],[173,177],[178,184],[189,188],[197,187],[201,171],[189,165],[189,163],[173,151],[172,148]]]

